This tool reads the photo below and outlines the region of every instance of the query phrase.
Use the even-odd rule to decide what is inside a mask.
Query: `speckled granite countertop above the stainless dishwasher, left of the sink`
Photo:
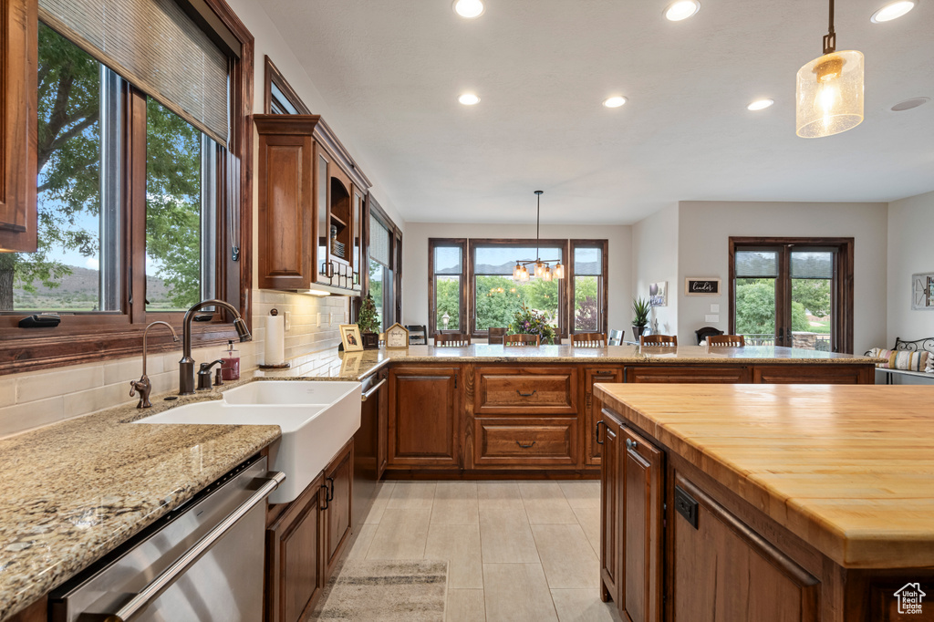
[[[219,397],[154,396],[147,410],[119,406],[0,440],[0,620],[279,438],[278,426],[129,424]]]

